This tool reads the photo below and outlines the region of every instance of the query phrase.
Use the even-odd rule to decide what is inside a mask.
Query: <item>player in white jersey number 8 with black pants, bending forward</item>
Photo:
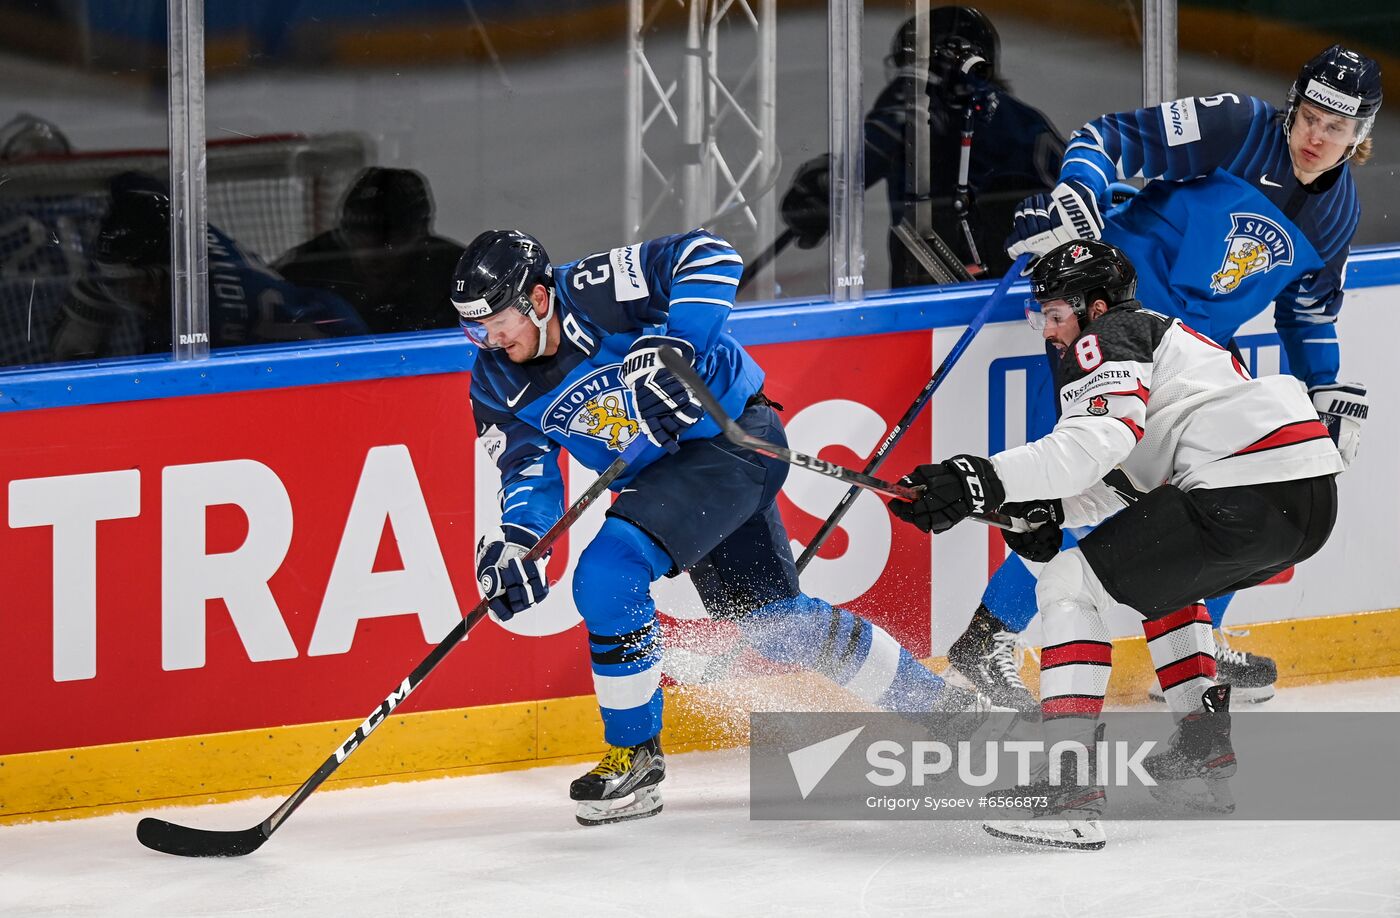
[[[1148,649],[1172,711],[1170,747],[1145,760],[1172,793],[1203,778],[1217,793],[1189,800],[1228,809],[1233,772],[1229,686],[1217,684],[1203,600],[1259,584],[1312,557],[1331,533],[1343,470],[1327,428],[1294,376],[1252,379],[1229,351],[1180,319],[1142,308],[1137,273],[1100,241],[1064,243],[1036,262],[1028,318],[1058,351],[1061,417],[1035,442],[990,459],[960,455],[918,466],[923,488],[892,512],[941,533],[972,512],[1042,525],[1005,533],[1012,549],[1050,556],[1036,584],[1047,742],[1091,746],[1103,709],[1113,602],[1144,617]],[[1126,504],[1103,476],[1121,467],[1144,495]],[[1100,523],[1060,551],[1060,526]],[[995,835],[1102,848],[1098,786],[1061,786],[1049,812],[988,823]]]

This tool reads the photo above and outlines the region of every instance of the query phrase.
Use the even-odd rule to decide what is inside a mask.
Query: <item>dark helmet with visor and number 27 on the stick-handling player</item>
[[[482,319],[514,308],[540,329],[539,353],[543,354],[543,330],[554,315],[552,271],[545,246],[526,232],[489,230],[472,239],[452,273],[452,305],[466,336],[480,347],[490,347]],[[543,319],[535,315],[529,298],[535,284],[549,288],[549,312]]]

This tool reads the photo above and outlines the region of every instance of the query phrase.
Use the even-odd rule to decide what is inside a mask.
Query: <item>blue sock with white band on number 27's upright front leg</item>
[[[588,627],[603,737],[636,746],[661,732],[661,627],[651,582],[671,556],[631,523],[609,516],[574,572],[574,605]]]

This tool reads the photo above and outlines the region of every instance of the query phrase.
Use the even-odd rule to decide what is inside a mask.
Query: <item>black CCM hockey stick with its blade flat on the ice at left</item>
[[[633,438],[631,445],[623,451],[617,459],[608,466],[602,474],[599,474],[588,490],[574,501],[573,507],[564,511],[564,515],[549,528],[539,542],[535,543],[529,551],[525,553],[524,560],[536,561],[549,551],[550,546],[564,535],[564,532],[574,525],[574,522],[584,514],[588,507],[598,500],[598,497],[608,490],[613,479],[627,469],[627,465],[634,462],[638,455],[647,448],[648,439],[645,437]],[[193,828],[190,826],[178,826],[175,823],[167,823],[162,819],[154,819],[147,816],[136,826],[136,838],[155,851],[165,854],[175,854],[185,858],[238,858],[245,854],[252,854],[262,847],[267,838],[272,837],[277,827],[281,826],[288,816],[291,816],[298,806],[311,795],[312,791],[321,786],[321,784],[330,777],[330,774],[340,767],[340,764],[350,757],[356,749],[358,749],[370,733],[374,732],[377,726],[384,723],[389,714],[407,698],[414,688],[423,684],[423,680],[428,677],[438,663],[456,647],[466,633],[470,631],[476,624],[484,619],[487,614],[487,600],[476,603],[466,616],[448,631],[448,635],[433,648],[421,663],[419,663],[407,677],[399,683],[399,686],[389,693],[389,697],[379,702],[379,707],[374,709],[370,716],[364,719],[364,723],[356,728],[346,742],[343,742],[336,751],[330,753],[330,757],[321,763],[321,767],[307,778],[297,791],[288,796],[281,806],[273,810],[272,816],[253,826],[252,828],[244,828],[238,831],[217,831],[210,828]]]

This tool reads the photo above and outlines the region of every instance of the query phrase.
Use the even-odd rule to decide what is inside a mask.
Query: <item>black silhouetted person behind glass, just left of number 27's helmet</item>
[[[343,297],[375,334],[456,327],[448,301],[462,246],[433,235],[433,195],[414,169],[364,169],[340,225],[298,245],[276,269]]]

